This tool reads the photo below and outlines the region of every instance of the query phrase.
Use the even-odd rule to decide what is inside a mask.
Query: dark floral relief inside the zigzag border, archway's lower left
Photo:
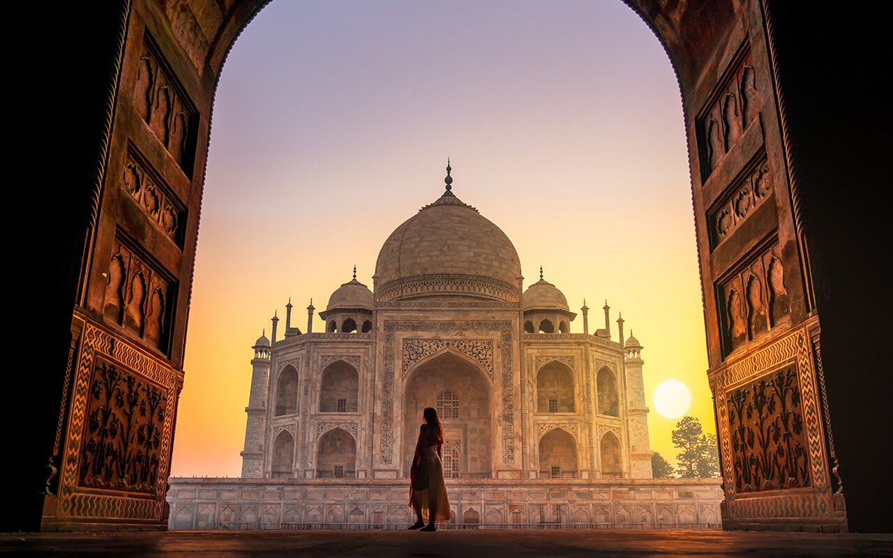
[[[154,493],[166,403],[162,388],[97,362],[79,486]]]

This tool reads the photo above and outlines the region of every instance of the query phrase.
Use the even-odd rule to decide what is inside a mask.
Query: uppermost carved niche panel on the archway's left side
[[[139,55],[133,95],[134,108],[140,118],[152,129],[179,168],[191,178],[198,111],[148,30]]]

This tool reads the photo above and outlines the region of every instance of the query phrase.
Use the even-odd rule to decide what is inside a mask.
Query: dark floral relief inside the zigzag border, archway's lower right
[[[726,397],[736,491],[809,486],[796,367],[756,379]]]

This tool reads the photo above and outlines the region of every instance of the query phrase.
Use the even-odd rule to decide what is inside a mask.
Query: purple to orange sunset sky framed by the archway
[[[481,5],[483,4],[483,5]],[[619,1],[274,2],[238,39],[213,112],[171,474],[238,476],[251,346],[306,326],[443,191],[495,222],[525,287],[546,279],[590,332],[602,305],[645,350],[651,446],[679,379],[714,429],[680,93]],[[318,318],[314,330],[324,325]],[[572,331],[582,331],[578,316]]]

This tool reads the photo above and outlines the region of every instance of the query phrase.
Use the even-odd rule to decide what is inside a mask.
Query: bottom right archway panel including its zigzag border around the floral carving
[[[838,514],[808,334],[816,324],[807,321],[709,377],[730,521]],[[791,490],[767,493],[785,487]]]

